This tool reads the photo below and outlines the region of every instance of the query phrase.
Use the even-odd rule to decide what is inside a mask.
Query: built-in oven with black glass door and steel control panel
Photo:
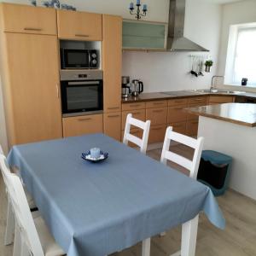
[[[62,116],[102,112],[102,71],[61,70],[61,107]]]

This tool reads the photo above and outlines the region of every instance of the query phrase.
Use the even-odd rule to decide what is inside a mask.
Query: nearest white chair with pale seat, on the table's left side
[[[7,186],[12,208],[15,212],[14,255],[60,256],[65,255],[50,235],[44,219],[32,218],[20,178],[9,172],[6,160],[0,156],[3,179]]]

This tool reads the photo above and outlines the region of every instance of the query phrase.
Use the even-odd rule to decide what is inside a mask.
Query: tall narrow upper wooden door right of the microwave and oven
[[[121,111],[122,18],[103,15],[104,112]]]

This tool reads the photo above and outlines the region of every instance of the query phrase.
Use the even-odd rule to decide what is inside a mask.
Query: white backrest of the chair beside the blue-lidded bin
[[[189,160],[182,155],[173,153],[170,151],[170,143],[171,141],[175,141],[177,143],[182,143],[183,145],[188,146],[189,148],[194,148],[193,159]],[[172,127],[167,127],[166,129],[166,137],[164,146],[161,154],[161,162],[166,164],[166,160],[171,160],[179,166],[183,166],[187,170],[189,170],[189,177],[195,178],[197,177],[198,167],[201,160],[201,151],[203,147],[204,138],[199,137],[198,139],[185,136],[183,134],[172,131]]]

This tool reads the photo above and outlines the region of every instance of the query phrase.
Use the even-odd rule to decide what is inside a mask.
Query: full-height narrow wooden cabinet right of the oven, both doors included
[[[122,18],[102,15],[104,133],[121,138]]]

